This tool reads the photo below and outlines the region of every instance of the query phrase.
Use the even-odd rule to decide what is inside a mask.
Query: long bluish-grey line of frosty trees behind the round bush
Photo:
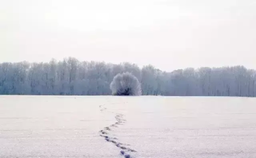
[[[187,68],[173,72],[152,65],[139,67],[65,58],[50,62],[0,64],[1,95],[111,95],[118,73],[130,72],[141,83],[142,95],[256,96],[256,71],[244,66]]]

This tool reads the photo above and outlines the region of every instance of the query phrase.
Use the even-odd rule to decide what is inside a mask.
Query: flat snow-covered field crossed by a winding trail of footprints
[[[125,155],[256,157],[256,99],[0,97],[0,157]]]

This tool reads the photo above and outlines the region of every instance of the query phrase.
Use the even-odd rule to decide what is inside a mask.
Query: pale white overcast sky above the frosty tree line
[[[256,1],[0,0],[0,62],[69,56],[256,69]]]

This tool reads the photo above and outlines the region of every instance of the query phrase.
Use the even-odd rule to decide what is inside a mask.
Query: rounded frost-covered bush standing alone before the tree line
[[[139,80],[129,72],[117,74],[110,84],[112,94],[116,96],[140,96]]]

